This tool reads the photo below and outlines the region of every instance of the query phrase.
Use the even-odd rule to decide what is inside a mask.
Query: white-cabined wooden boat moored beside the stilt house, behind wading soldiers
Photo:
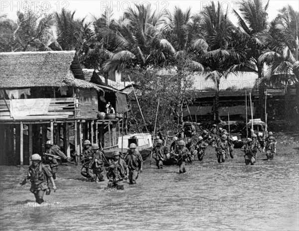
[[[126,154],[131,143],[136,144],[136,150],[140,152],[143,160],[146,160],[152,150],[151,135],[149,133],[135,133],[120,136],[118,138],[117,147],[109,148],[107,150],[104,148],[104,154],[107,159],[112,159],[112,153],[114,151],[119,151],[120,153],[122,152],[123,154]]]

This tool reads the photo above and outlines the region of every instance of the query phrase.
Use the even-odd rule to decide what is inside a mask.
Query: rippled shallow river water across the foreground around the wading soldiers
[[[285,147],[273,161],[258,153],[254,166],[239,149],[218,164],[208,147],[185,174],[178,166],[158,170],[148,159],[137,184],[124,191],[106,190],[107,179],[85,181],[80,166],[60,166],[58,189],[42,207],[34,206],[29,183],[18,185],[28,166],[1,166],[0,230],[298,230],[298,144]]]

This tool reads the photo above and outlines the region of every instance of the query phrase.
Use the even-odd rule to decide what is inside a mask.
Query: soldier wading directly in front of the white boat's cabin
[[[124,160],[129,168],[129,180],[130,185],[136,184],[139,172],[143,169],[143,159],[138,150],[136,150],[136,144],[131,143],[129,146],[129,151],[126,154]]]

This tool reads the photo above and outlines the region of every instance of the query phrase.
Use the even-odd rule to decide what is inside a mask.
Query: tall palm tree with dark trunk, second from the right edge
[[[233,10],[237,16],[238,25],[246,41],[244,50],[247,53],[248,60],[253,67],[247,66],[247,69],[258,74],[259,79],[259,103],[257,105],[257,114],[263,117],[263,99],[265,85],[262,84],[263,64],[259,63],[260,55],[265,51],[263,38],[268,30],[268,13],[269,0],[266,4],[263,0],[242,0],[239,2],[239,11]]]

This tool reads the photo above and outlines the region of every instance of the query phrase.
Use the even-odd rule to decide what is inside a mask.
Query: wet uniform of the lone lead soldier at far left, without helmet
[[[50,177],[52,177],[52,173],[47,165],[39,163],[35,168],[33,165],[29,166],[27,178],[29,178],[31,182],[30,192],[34,194],[38,204],[44,202],[43,196],[48,189],[47,179]]]

